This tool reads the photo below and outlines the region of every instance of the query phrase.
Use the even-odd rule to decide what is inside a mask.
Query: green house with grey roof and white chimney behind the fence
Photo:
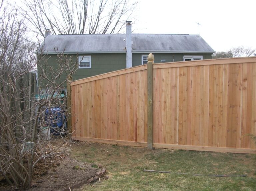
[[[211,59],[214,53],[199,35],[132,34],[131,26],[127,22],[126,34],[50,35],[47,31],[43,53],[53,67],[57,52],[73,59],[78,54],[73,80],[146,64],[149,53],[155,63]]]

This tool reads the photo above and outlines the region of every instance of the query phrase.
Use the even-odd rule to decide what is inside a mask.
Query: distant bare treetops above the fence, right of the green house
[[[228,51],[216,52],[213,58],[234,58],[234,57],[248,57],[255,55],[256,49],[245,48],[244,46],[235,47]]]

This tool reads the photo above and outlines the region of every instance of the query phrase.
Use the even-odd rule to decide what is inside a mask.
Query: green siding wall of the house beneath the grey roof
[[[141,65],[141,55],[148,55],[149,53],[133,53],[132,54],[132,66]],[[183,61],[183,55],[200,55],[203,56],[203,59],[211,59],[211,54],[170,54],[170,53],[153,53],[155,56],[155,63],[160,63],[161,60],[166,60],[166,62]],[[76,73],[72,75],[73,80],[78,80],[82,78],[87,78],[90,76],[95,76],[107,72],[112,72],[116,70],[121,70],[126,68],[126,54],[125,53],[109,53],[109,54],[79,54],[79,56],[91,56],[91,68],[78,68]],[[76,61],[76,54],[69,54],[68,58],[72,57],[72,61]],[[57,55],[47,55],[47,62],[49,66],[52,66],[54,70],[58,70]],[[78,59],[77,59],[78,60]],[[38,68],[38,74],[40,75],[41,71]],[[46,71],[47,73],[47,71]],[[53,78],[49,77],[49,78]],[[61,81],[66,79],[66,75],[61,76]],[[41,83],[41,84],[40,84]],[[44,87],[42,82],[39,81],[39,86]],[[64,84],[66,87],[66,84]]]

